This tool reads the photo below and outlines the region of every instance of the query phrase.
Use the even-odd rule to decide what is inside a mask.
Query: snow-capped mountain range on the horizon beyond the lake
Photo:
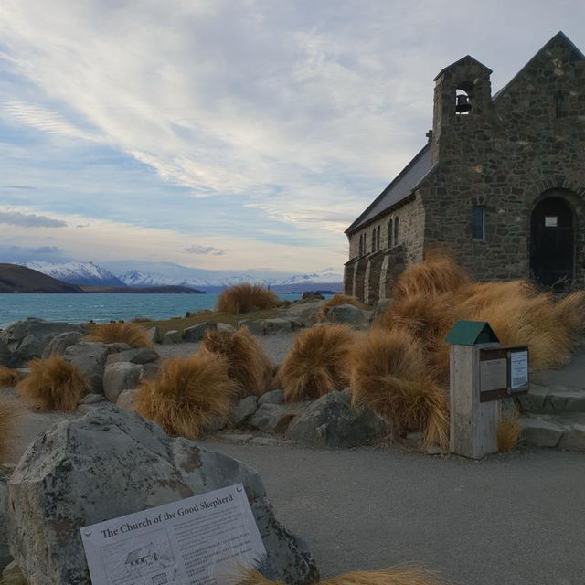
[[[186,286],[215,293],[241,282],[261,282],[276,293],[303,292],[308,290],[342,289],[343,277],[332,268],[304,274],[289,272],[246,270],[208,271],[188,268],[172,262],[112,261],[98,265],[94,262],[68,262],[52,264],[27,261],[27,268],[43,272],[59,281],[85,286]]]

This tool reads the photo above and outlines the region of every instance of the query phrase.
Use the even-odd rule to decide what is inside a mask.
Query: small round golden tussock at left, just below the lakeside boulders
[[[77,409],[81,396],[88,389],[77,367],[61,356],[33,359],[27,367],[31,368],[31,372],[18,382],[16,388],[29,406],[38,410],[67,412]]]

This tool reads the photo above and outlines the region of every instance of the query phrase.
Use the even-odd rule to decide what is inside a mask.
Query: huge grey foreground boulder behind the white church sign
[[[317,580],[312,554],[276,520],[258,473],[115,408],[59,422],[29,446],[8,481],[10,547],[30,585],[90,585],[80,527],[240,482],[271,575]]]

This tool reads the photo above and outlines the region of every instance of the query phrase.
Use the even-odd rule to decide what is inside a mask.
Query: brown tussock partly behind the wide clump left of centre
[[[271,390],[271,358],[262,350],[246,327],[235,333],[207,329],[203,347],[209,352],[226,356],[228,374],[239,386],[239,396],[261,396]]]

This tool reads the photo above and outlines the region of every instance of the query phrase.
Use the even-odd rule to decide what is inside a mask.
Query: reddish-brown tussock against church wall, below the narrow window
[[[430,252],[420,264],[400,274],[392,295],[395,301],[401,301],[417,294],[454,293],[469,283],[467,273],[452,258]]]

